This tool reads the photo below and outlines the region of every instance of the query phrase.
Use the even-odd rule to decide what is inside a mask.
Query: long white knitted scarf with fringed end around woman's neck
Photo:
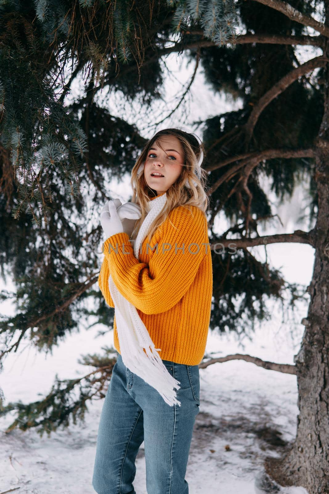
[[[138,259],[140,247],[146,237],[147,230],[160,213],[167,201],[167,194],[156,197],[147,203],[148,212],[140,227],[134,245],[134,255]],[[113,246],[114,247],[114,246]],[[136,307],[131,304],[116,288],[109,277],[110,294],[114,302],[116,329],[119,338],[120,353],[124,365],[155,388],[168,405],[179,405],[176,389],[180,389],[180,381],[167,371],[157,352],[154,343],[139,317]],[[146,352],[144,352],[144,349]]]

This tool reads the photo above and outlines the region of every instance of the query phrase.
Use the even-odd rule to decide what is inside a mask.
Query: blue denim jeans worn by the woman
[[[185,477],[195,417],[199,367],[163,360],[178,381],[181,406],[168,405],[118,354],[101,413],[92,485],[98,494],[136,494],[135,459],[144,441],[148,494],[188,494]]]

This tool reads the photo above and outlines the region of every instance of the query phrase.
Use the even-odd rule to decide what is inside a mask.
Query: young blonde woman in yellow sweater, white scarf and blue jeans
[[[99,286],[115,308],[118,358],[97,437],[92,484],[98,494],[136,494],[135,459],[143,441],[147,493],[188,493],[185,472],[200,405],[198,364],[213,287],[203,151],[194,134],[178,128],[157,132],[133,167],[131,203],[114,200],[103,208],[107,240]],[[132,358],[145,337],[141,328],[149,340]],[[127,334],[136,334],[140,345]]]

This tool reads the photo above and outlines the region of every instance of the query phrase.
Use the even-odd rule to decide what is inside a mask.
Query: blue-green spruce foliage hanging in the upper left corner
[[[158,62],[153,64],[151,77],[142,74],[140,66],[144,44],[148,42],[147,15],[151,22],[152,13],[161,18],[166,9],[150,10],[150,4],[142,1],[138,2],[140,8],[131,9],[131,3],[3,3],[0,143],[10,154],[17,184],[14,218],[24,212],[39,227],[42,221],[47,222],[54,199],[49,186],[54,172],[58,173],[68,199],[81,199],[78,176],[85,164],[88,136],[77,115],[57,95],[58,89],[63,91],[69,60],[76,74],[83,68],[88,74],[91,69],[96,84],[101,79],[104,82],[105,75],[114,82],[120,62],[128,65],[127,70],[132,73],[136,73],[137,63],[138,82],[134,76],[117,85],[130,96],[145,89],[154,95],[155,84],[161,83]],[[99,19],[103,22],[101,27]]]

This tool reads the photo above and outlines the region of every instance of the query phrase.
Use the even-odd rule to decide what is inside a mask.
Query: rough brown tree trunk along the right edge
[[[329,0],[325,1],[329,24]],[[329,57],[326,39],[325,56]],[[329,67],[325,67],[324,116],[316,139],[315,180],[318,217],[315,263],[305,332],[294,356],[298,385],[297,433],[291,450],[267,458],[266,471],[283,486],[302,486],[309,494],[329,494]],[[284,405],[284,404],[283,404]]]

